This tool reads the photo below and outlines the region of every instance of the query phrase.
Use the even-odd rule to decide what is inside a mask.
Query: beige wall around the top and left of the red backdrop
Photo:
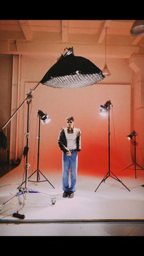
[[[59,56],[57,56],[59,57]],[[85,56],[82,56],[85,57]],[[101,58],[89,59],[92,61],[97,67],[103,69],[104,60]],[[57,62],[57,58],[52,56],[21,56],[21,82],[20,82],[20,102],[23,102],[24,97],[24,84],[25,82],[39,82],[45,73],[49,70]],[[132,70],[128,65],[128,62],[124,59],[110,59],[107,63],[109,65],[109,69],[112,73],[110,77],[104,79],[104,81],[99,82],[98,84],[131,84],[132,80]],[[34,86],[34,84],[33,84]],[[37,90],[37,89],[36,89]],[[66,89],[67,90],[67,89]],[[49,92],[49,91],[48,91]],[[79,97],[82,97],[81,91]],[[34,92],[35,98],[35,92]],[[42,99],[40,99],[42,100]],[[121,99],[120,99],[121,100]],[[23,107],[20,112],[23,112]],[[18,149],[18,156],[21,157],[21,152],[23,152],[23,144],[22,144],[22,137],[24,134],[24,119],[23,114],[20,117],[20,145]]]

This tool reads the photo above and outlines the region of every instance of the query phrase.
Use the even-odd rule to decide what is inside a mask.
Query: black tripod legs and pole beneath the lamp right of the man
[[[123,186],[128,189],[124,183],[115,175],[113,174],[113,172],[110,171],[110,106],[108,107],[108,113],[109,113],[109,133],[108,133],[108,137],[109,137],[109,170],[107,172],[107,174],[104,176],[103,180],[101,180],[101,182],[99,183],[98,187],[95,189],[95,192],[96,190],[99,188],[99,186],[101,185],[101,183],[105,182],[105,180],[109,177],[112,177],[114,178],[115,180],[119,181],[121,184],[123,184]],[[113,176],[112,176],[113,175]],[[128,189],[128,191],[130,191]]]

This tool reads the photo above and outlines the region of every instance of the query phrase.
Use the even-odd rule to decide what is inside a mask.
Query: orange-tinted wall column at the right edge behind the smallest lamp
[[[136,162],[144,166],[144,55],[133,54],[129,59],[132,68],[132,120],[131,131],[138,133],[136,136]],[[139,167],[138,167],[139,169]]]

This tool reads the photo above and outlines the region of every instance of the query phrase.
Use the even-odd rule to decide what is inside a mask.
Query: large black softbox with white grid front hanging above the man
[[[102,71],[90,60],[74,56],[73,48],[57,60],[41,79],[41,84],[56,88],[92,86],[104,79]]]

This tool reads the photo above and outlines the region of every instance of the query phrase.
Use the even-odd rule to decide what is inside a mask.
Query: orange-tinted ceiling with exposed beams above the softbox
[[[129,58],[144,54],[144,35],[134,37],[134,20],[0,20],[1,54],[63,53]],[[107,37],[106,37],[107,27]],[[107,40],[106,40],[107,38]]]

